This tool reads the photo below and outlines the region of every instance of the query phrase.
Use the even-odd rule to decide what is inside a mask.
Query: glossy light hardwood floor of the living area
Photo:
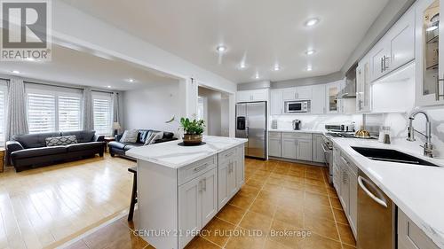
[[[135,162],[79,160],[0,174],[0,249],[52,248],[130,206]]]

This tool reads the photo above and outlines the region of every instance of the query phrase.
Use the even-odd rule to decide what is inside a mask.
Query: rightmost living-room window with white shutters
[[[94,130],[99,135],[112,134],[111,97],[93,97]]]

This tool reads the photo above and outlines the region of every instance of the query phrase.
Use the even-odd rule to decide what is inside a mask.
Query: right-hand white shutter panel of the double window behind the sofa
[[[71,131],[81,129],[81,98],[58,97],[59,106],[59,131]]]

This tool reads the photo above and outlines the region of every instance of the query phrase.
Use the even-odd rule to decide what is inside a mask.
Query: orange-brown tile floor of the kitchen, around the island
[[[324,168],[274,160],[246,160],[245,166],[242,190],[187,249],[355,248],[352,231]],[[153,248],[134,235],[137,212],[134,221],[127,222],[123,216],[76,238],[67,248]],[[258,230],[263,233],[254,233]],[[277,233],[284,231],[305,232],[305,236]]]

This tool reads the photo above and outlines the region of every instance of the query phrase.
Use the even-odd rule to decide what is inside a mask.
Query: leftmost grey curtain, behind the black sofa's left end
[[[8,141],[14,135],[28,132],[25,82],[20,78],[12,78],[8,83],[8,111],[4,138]]]

